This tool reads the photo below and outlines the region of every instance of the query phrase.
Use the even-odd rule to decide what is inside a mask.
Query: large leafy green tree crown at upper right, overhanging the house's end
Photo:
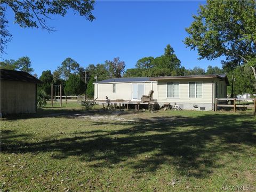
[[[255,58],[256,1],[207,1],[193,18],[185,44],[199,59],[225,56],[223,68],[230,71]]]

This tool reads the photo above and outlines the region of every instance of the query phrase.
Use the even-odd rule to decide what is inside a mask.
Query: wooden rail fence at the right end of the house
[[[218,102],[221,101],[221,103],[219,104]],[[230,101],[230,104],[228,104]],[[236,103],[236,102],[239,103]],[[241,105],[240,101],[253,101],[253,105]],[[223,104],[225,103],[225,104]],[[235,112],[237,110],[237,108],[239,107],[246,107],[254,109],[254,114],[256,113],[256,98],[251,98],[251,99],[236,99],[236,98],[216,98],[215,99],[215,111],[218,110],[218,107],[233,107],[233,111]]]

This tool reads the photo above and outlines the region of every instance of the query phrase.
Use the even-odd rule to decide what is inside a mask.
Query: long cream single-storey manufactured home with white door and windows
[[[94,83],[94,100],[140,102],[153,90],[152,101],[182,109],[214,110],[215,98],[227,98],[226,75],[111,78]]]

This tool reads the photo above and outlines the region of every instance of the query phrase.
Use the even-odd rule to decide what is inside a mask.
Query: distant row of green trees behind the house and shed
[[[23,70],[33,73],[31,62],[28,57],[15,60],[5,60],[1,62],[1,68],[11,70]],[[167,45],[164,54],[159,57],[144,57],[135,63],[135,67],[125,70],[125,62],[118,57],[113,61],[105,61],[105,63],[97,65],[89,65],[82,67],[74,59],[65,59],[56,70],[43,71],[39,79],[43,84],[39,85],[39,91],[51,94],[51,84],[62,84],[63,93],[66,95],[87,94],[89,98],[93,98],[94,86],[93,82],[101,81],[108,78],[120,77],[153,77],[153,76],[183,76],[183,75],[204,75],[204,74],[227,74],[229,81],[234,80],[234,94],[255,93],[255,78],[250,67],[238,66],[232,68],[219,68],[208,66],[207,69],[194,67],[186,69],[181,66],[181,61],[175,55],[171,45]],[[34,76],[37,77],[36,74]],[[230,87],[228,88],[230,94]],[[55,94],[55,93],[54,93]]]

